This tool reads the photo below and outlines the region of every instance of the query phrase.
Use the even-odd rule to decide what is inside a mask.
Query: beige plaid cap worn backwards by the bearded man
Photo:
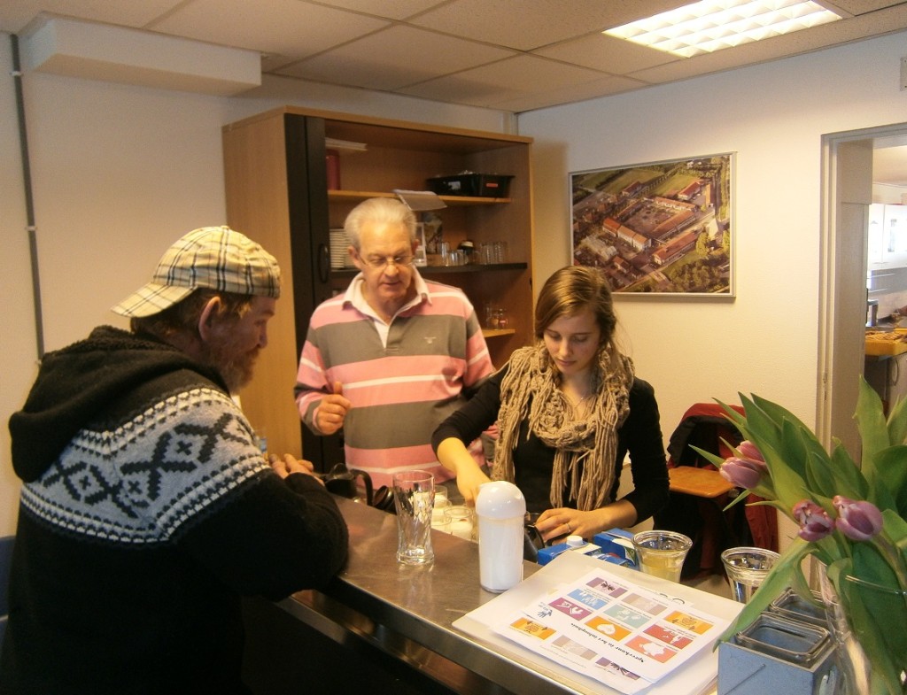
[[[220,292],[280,296],[278,262],[254,241],[229,227],[201,227],[167,249],[151,282],[111,311],[151,316],[206,287]]]

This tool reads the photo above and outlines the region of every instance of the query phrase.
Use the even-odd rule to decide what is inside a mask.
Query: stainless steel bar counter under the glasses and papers
[[[346,569],[323,591],[304,591],[281,608],[341,644],[357,640],[405,661],[456,692],[586,695],[590,688],[542,657],[501,653],[453,627],[497,594],[479,585],[479,546],[433,531],[434,565],[396,562],[396,517],[338,498],[350,535]],[[539,571],[524,563],[524,578]]]

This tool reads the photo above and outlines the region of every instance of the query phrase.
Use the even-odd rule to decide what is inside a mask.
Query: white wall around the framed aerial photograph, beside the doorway
[[[536,287],[571,260],[568,172],[736,152],[736,301],[618,299],[666,438],[691,403],[738,391],[815,422],[821,138],[907,121],[904,54],[907,33],[893,34],[521,114],[536,139]]]

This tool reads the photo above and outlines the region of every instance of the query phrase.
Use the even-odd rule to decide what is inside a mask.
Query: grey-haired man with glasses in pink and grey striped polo
[[[376,486],[413,468],[448,479],[432,432],[493,371],[473,305],[414,268],[415,217],[400,201],[360,203],[345,229],[360,273],[312,314],[297,374],[299,414],[316,434],[342,428],[346,464]],[[478,442],[473,451],[483,463]]]

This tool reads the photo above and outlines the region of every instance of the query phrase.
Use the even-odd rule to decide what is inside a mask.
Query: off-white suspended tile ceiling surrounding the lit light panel
[[[538,103],[558,97],[545,98],[538,90],[527,91],[522,86],[510,90],[508,85],[489,80],[484,73],[458,75],[447,83],[450,91],[439,88],[440,83],[435,81],[442,79],[440,72],[477,69],[477,63],[487,57],[483,50],[505,54],[526,50],[533,51],[539,60],[571,63],[599,72],[595,79],[622,74],[640,85],[672,82],[907,28],[907,0],[831,2],[850,13],[848,18],[790,37],[748,43],[692,59],[676,59],[667,54],[656,57],[649,53],[650,49],[629,43],[618,47],[619,40],[600,34],[602,29],[684,5],[686,0],[0,0],[0,31],[24,31],[27,35],[41,25],[43,15],[39,13],[83,18],[256,51],[264,72],[297,73],[301,77],[311,71],[307,85],[320,80],[318,83],[356,84],[408,95],[421,89],[423,98],[445,102],[456,102],[456,95],[463,93],[471,100],[464,103],[479,100],[522,104],[528,103],[530,96]],[[401,48],[392,42],[377,47],[378,42],[375,50],[381,55],[375,53],[372,62],[380,69],[364,64],[363,56],[357,53],[356,40],[400,25],[434,31],[450,40],[434,42],[431,51],[424,47]],[[483,49],[467,44],[474,54],[463,62],[463,44],[457,39],[481,43]],[[609,42],[618,43],[611,46]],[[348,51],[346,43],[351,46]],[[336,52],[343,61],[331,63],[326,52]],[[326,53],[324,60],[319,53]],[[419,55],[414,63],[401,65],[396,53]],[[306,67],[307,59],[311,59],[311,64]],[[438,71],[438,63],[448,66]],[[500,67],[493,68],[493,72],[501,71]],[[433,72],[437,77],[431,77]],[[561,94],[560,98],[574,101],[575,95],[563,88],[578,83],[573,80],[575,73],[567,71],[565,75],[567,82],[547,81],[546,89],[552,95]],[[521,77],[514,75],[515,80]],[[424,86],[411,80],[424,80]],[[397,86],[401,84],[404,86]],[[490,84],[498,90],[497,94],[485,93]],[[615,93],[608,84],[602,83],[604,91],[599,96]]]

